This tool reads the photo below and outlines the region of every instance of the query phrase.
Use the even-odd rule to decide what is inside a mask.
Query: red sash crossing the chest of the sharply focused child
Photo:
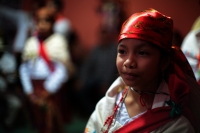
[[[148,110],[139,118],[124,125],[114,133],[149,133],[177,117],[169,117],[171,107]]]

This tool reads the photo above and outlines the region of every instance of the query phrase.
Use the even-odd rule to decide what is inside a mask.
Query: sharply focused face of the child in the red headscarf
[[[141,91],[158,87],[160,51],[138,39],[123,39],[118,45],[117,69],[126,85]]]

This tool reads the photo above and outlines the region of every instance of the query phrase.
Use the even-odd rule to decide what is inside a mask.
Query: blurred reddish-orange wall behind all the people
[[[193,22],[200,15],[199,0],[124,0],[128,16],[132,13],[155,8],[174,20],[174,27],[183,37],[189,32]],[[71,20],[85,48],[90,50],[97,41],[100,16],[96,9],[99,0],[64,0],[64,14]]]

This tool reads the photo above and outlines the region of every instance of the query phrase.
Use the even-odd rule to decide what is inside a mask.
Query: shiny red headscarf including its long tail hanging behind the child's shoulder
[[[171,63],[167,70],[167,82],[170,97],[174,105],[181,105],[181,113],[193,123],[189,109],[190,98],[192,98],[189,97],[191,87],[186,76],[195,81],[196,79],[183,52],[179,47],[172,46],[172,37],[173,20],[171,17],[150,8],[133,14],[123,23],[118,42],[126,38],[141,39],[155,44],[169,53]]]

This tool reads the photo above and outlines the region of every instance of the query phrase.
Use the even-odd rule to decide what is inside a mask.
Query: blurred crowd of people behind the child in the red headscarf
[[[27,122],[40,133],[64,133],[63,126],[75,113],[89,117],[118,76],[115,58],[126,19],[123,4],[100,0],[98,42],[88,53],[62,13],[62,0],[32,0],[28,8],[23,2],[0,0],[0,124],[6,133]],[[191,31],[196,44],[183,43],[198,79],[199,28]],[[174,30],[174,45],[181,47],[182,41]]]

